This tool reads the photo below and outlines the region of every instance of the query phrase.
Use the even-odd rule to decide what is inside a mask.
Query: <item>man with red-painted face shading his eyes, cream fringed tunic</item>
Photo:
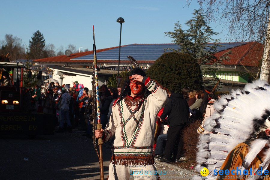
[[[153,140],[156,115],[167,103],[168,94],[140,68],[130,72],[122,89],[113,103],[107,127],[95,130],[95,137],[104,142],[115,136],[109,179],[158,179],[153,165]]]

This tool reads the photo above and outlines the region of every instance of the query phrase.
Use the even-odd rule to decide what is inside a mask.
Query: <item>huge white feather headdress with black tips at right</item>
[[[201,134],[196,153],[196,170],[203,167],[209,170],[208,179],[215,179],[213,171],[220,170],[228,153],[239,143],[258,134],[263,128],[269,127],[270,116],[270,85],[262,80],[247,84],[242,90],[232,90],[214,103],[215,113],[205,119],[204,129],[217,134]],[[266,127],[265,127],[266,125]],[[269,139],[256,139],[244,158],[241,169],[250,166],[253,159]],[[270,164],[270,149],[265,152],[262,170]],[[259,168],[260,168],[259,167]]]

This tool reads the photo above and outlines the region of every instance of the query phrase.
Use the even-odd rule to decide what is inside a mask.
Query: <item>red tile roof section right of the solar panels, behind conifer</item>
[[[244,45],[217,52],[215,53],[215,56],[219,58],[228,51],[231,51],[232,54],[229,55],[229,61],[223,61],[224,64],[258,66],[259,61],[262,59],[263,44],[247,42]]]

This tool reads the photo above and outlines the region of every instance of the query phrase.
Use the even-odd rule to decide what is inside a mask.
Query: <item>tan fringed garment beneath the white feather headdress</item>
[[[253,139],[254,140],[254,139]],[[240,143],[238,144],[230,153],[229,155],[227,156],[227,158],[225,159],[224,163],[222,164],[222,166],[220,167],[220,170],[223,170],[223,172],[225,170],[229,170],[229,175],[225,175],[223,173],[223,175],[217,175],[217,180],[223,180],[223,179],[237,179],[237,177],[239,177],[240,175],[236,175],[236,167],[238,167],[238,169],[241,167],[242,165],[242,162],[245,158],[245,156],[247,155],[247,153],[249,152],[249,149],[250,149],[250,143],[253,141],[253,140],[248,140],[244,143]],[[260,164],[262,164],[262,161],[261,161],[261,157],[263,155],[263,152],[265,150],[262,149],[262,151],[256,156],[256,158],[252,161],[252,163],[250,164],[250,166],[248,167],[248,175],[242,175],[242,180],[243,179],[248,179],[247,177],[250,176],[250,167],[252,168],[252,170],[255,170],[256,168],[259,167]],[[235,175],[232,175],[231,174],[231,170],[235,170]],[[267,170],[270,172],[270,168],[268,166]],[[227,177],[227,176],[230,176]],[[245,176],[247,176],[246,178],[244,178]],[[224,177],[224,178],[222,178]],[[226,178],[227,177],[227,178]],[[266,176],[261,176],[259,178],[260,180],[270,180],[270,177],[269,175],[266,175]]]

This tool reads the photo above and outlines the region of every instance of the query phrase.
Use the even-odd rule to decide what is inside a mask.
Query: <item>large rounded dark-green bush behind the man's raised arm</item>
[[[147,76],[175,92],[184,87],[202,88],[202,74],[198,62],[187,53],[165,52],[146,71]]]

